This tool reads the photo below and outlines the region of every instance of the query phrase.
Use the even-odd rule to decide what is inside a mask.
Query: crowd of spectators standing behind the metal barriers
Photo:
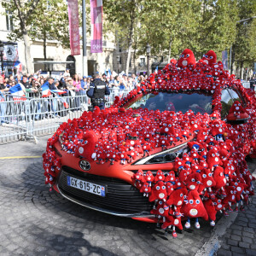
[[[113,72],[114,73],[114,72]],[[100,78],[108,84],[108,88],[113,89],[114,92],[119,90],[132,90],[141,84],[144,79],[147,79],[147,75],[137,76],[135,74],[126,75],[125,73],[119,75],[107,75],[103,73]],[[8,93],[9,88],[20,84],[24,95],[29,97],[39,97],[41,86],[45,82],[49,82],[49,90],[65,90],[66,95],[75,96],[76,92],[79,94],[85,94],[85,91],[90,88],[90,83],[93,81],[91,76],[80,76],[79,74],[70,75],[67,69],[65,73],[61,74],[58,79],[53,79],[49,76],[43,76],[38,73],[32,75],[9,75],[8,78],[0,76],[0,91],[2,93]]]

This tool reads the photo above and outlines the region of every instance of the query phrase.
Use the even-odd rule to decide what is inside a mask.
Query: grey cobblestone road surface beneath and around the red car
[[[155,224],[95,212],[49,192],[42,157],[49,136],[0,146],[0,255],[256,255],[256,198],[212,228],[165,236]],[[249,163],[256,169],[253,162]]]

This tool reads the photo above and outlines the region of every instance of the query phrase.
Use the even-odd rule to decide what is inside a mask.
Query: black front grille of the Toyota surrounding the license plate
[[[107,188],[106,196],[94,195],[68,186],[67,176],[69,175],[91,183],[105,185]],[[63,195],[108,211],[127,214],[148,213],[153,207],[153,203],[148,202],[148,198],[144,197],[130,183],[113,177],[96,176],[86,172],[79,172],[67,166],[63,166],[63,171],[58,180],[58,186]]]

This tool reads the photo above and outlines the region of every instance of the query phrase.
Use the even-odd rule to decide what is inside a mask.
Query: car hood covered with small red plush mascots
[[[49,144],[59,140],[62,151],[90,162],[126,164],[191,140],[194,131],[210,120],[207,113],[192,111],[160,113],[142,108],[108,108],[69,119],[49,139]]]

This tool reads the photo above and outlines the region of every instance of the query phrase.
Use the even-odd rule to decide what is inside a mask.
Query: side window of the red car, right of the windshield
[[[228,113],[230,112],[230,108],[232,107],[234,102],[241,102],[241,104],[244,106],[244,102],[241,101],[241,96],[238,95],[236,90],[232,89],[224,89],[221,92],[221,118],[225,119]]]

